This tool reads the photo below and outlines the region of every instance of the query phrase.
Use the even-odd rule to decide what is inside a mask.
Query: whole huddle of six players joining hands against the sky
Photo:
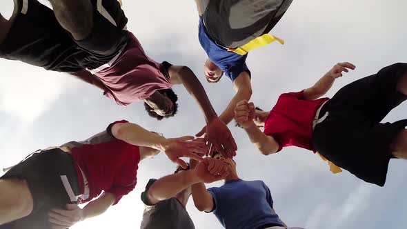
[[[235,119],[263,155],[297,146],[377,186],[384,186],[392,158],[407,158],[407,119],[380,123],[407,99],[407,63],[382,68],[323,97],[352,63],[337,63],[314,86],[281,94],[269,112],[250,102],[248,52],[272,41],[268,32],[292,0],[196,0],[199,42],[208,54],[210,83],[223,75],[236,90],[219,116],[187,66],[150,59],[127,30],[117,0],[14,0],[10,19],[0,14],[0,57],[66,72],[99,88],[121,106],[143,101],[150,117],[177,113],[172,85],[182,84],[203,112],[196,137],[166,138],[126,120],[84,141],[37,150],[0,177],[0,228],[70,228],[101,215],[137,184],[141,160],[164,152],[179,167],[150,179],[141,200],[141,228],[195,228],[186,211],[213,212],[224,228],[288,228],[273,208],[263,181],[239,178],[237,144],[226,126]],[[41,26],[39,26],[41,25]],[[260,128],[264,128],[261,130]],[[206,157],[203,157],[206,156]],[[189,163],[182,157],[189,157]],[[224,180],[218,188],[205,183]],[[87,203],[79,208],[79,203]]]

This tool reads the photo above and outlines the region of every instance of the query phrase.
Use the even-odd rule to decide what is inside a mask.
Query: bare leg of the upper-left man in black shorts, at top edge
[[[90,0],[49,0],[59,24],[77,41],[92,31],[93,8]]]

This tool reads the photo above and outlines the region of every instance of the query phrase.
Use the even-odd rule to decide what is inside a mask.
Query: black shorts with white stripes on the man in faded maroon
[[[75,41],[50,8],[37,0],[17,0],[17,14],[0,44],[0,57],[46,70],[77,72],[99,68],[126,46],[128,19],[117,0],[91,0],[95,10],[89,37]],[[90,15],[91,16],[91,15]]]

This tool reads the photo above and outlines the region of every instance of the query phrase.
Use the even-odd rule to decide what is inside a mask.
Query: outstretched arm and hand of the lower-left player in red
[[[190,157],[201,161],[201,157],[195,152],[205,153],[205,143],[190,141],[192,136],[166,139],[155,132],[150,132],[135,123],[115,123],[112,126],[112,135],[122,141],[126,141],[135,146],[146,146],[161,150],[166,153],[168,159],[178,163],[182,168],[186,168],[185,161],[180,157]]]

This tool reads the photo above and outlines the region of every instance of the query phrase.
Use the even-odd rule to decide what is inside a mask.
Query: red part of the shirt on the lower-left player
[[[127,122],[123,120],[115,123]],[[110,135],[110,128],[115,123],[109,125],[106,135]],[[91,201],[105,191],[116,196],[116,204],[135,188],[140,162],[139,146],[112,137],[110,141],[71,148],[71,152],[75,162],[85,173],[90,189],[89,198],[81,203]],[[80,170],[78,175],[79,185],[83,190]]]

